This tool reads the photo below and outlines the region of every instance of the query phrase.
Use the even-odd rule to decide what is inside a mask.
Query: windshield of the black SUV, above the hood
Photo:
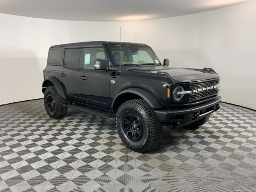
[[[136,45],[110,45],[110,52],[114,58],[116,66],[142,66],[142,65],[160,65],[160,62],[149,47]]]

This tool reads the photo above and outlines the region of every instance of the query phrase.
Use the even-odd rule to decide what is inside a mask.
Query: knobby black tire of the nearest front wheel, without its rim
[[[142,138],[138,141],[130,140],[124,133],[122,121],[126,114],[133,113],[143,126]],[[116,113],[116,127],[122,142],[136,152],[147,152],[160,143],[162,138],[162,123],[156,116],[154,109],[143,99],[134,99],[124,102]]]

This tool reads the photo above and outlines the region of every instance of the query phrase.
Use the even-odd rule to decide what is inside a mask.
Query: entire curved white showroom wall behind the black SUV
[[[214,68],[222,100],[256,109],[256,0],[173,18],[76,22],[0,14],[0,104],[42,98],[42,70],[54,44],[119,40],[150,45],[170,66]]]

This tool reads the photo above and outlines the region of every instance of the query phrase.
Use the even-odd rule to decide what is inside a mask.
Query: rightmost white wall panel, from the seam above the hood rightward
[[[221,76],[223,101],[256,109],[256,0],[200,14],[198,68]]]

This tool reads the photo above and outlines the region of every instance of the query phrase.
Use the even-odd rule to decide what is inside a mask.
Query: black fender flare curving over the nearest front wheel
[[[140,96],[141,98],[146,100],[146,102],[148,102],[148,104],[152,108],[156,108],[156,109],[162,108],[162,106],[160,105],[158,100],[150,92],[148,92],[144,89],[141,89],[141,88],[128,88],[128,89],[125,89],[125,90],[119,92],[115,96],[115,98],[113,99],[112,105],[111,105],[112,109],[113,109],[114,102],[116,101],[116,98],[118,98],[118,96],[120,96],[121,94],[124,94],[124,93],[133,93],[133,94]]]

